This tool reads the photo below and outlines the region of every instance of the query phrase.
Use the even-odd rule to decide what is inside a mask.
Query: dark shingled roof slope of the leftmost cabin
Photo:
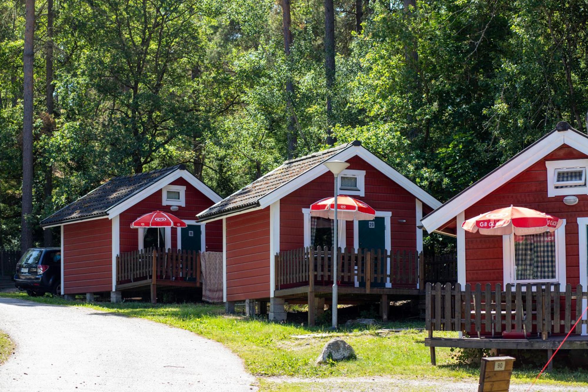
[[[95,190],[42,220],[41,226],[105,216],[109,208],[125,201],[136,192],[143,190],[153,182],[161,180],[161,178],[176,170],[185,170],[185,167],[184,165],[175,165],[145,173],[112,178],[112,180],[105,182],[105,184],[100,185]]]

